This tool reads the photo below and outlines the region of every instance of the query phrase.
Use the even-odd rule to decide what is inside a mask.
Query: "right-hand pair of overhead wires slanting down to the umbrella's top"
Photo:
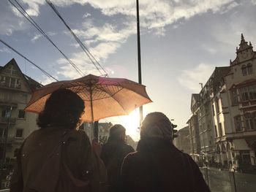
[[[61,19],[61,21],[64,23],[64,25],[69,29],[70,33],[72,34],[72,36],[75,38],[76,42],[78,42],[78,44],[80,45],[80,47],[82,48],[82,50],[86,53],[86,55],[89,57],[90,61],[92,64],[94,64],[94,66],[96,67],[96,69],[99,71],[100,74],[102,74],[102,72],[99,70],[99,67],[102,69],[103,72],[105,72],[105,75],[108,76],[108,73],[105,71],[105,69],[99,64],[99,62],[97,61],[96,58],[94,58],[94,55],[92,55],[89,51],[89,48],[86,47],[86,45],[83,44],[83,42],[80,41],[80,39],[74,34],[74,32],[72,31],[72,29],[67,25],[66,21],[64,20],[64,18],[61,17],[60,13],[58,12],[58,10],[56,9],[56,7],[54,7],[53,3],[50,0],[45,0],[48,5],[53,9],[53,11],[56,13],[56,15],[59,16],[59,18]],[[98,64],[98,66],[97,66]],[[103,75],[103,74],[102,74]]]

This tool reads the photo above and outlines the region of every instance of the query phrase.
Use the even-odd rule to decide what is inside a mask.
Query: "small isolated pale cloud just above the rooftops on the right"
[[[209,64],[199,64],[194,69],[184,70],[178,77],[178,82],[185,88],[197,93],[200,91],[199,83],[205,83],[214,72],[214,66]]]

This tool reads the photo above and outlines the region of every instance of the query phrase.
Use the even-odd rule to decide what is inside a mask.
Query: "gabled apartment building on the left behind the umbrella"
[[[15,158],[15,150],[37,129],[37,115],[24,112],[24,108],[29,103],[31,93],[40,87],[39,82],[20,71],[14,58],[0,66],[1,160],[4,155],[7,161]]]

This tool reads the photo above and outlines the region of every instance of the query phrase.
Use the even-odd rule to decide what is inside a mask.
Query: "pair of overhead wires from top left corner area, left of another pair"
[[[18,1],[15,0],[15,2],[18,4],[18,6],[20,7],[20,9],[23,10],[23,12],[15,5],[12,3],[12,1],[8,0],[10,2],[10,4],[12,4],[13,7],[15,7],[18,12],[20,12],[20,14],[22,14],[27,20],[29,20],[29,22],[35,27],[37,28],[37,30],[46,38],[48,39],[48,41],[54,46],[56,47],[57,50],[59,50],[59,53],[61,53],[61,55],[64,56],[64,58],[69,62],[69,64],[72,65],[72,67],[83,77],[84,73],[78,68],[78,66],[76,66],[68,57],[67,55],[65,55],[60,49],[59,47],[50,39],[50,37],[48,37],[47,34],[45,34],[45,31],[42,30],[42,28],[40,28],[37,23],[29,16],[29,14],[26,12],[25,9],[23,9],[23,7],[18,3]]]

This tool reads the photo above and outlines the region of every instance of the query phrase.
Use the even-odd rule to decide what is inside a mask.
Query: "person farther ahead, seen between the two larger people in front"
[[[109,192],[116,192],[121,164],[127,154],[134,152],[134,149],[125,142],[125,128],[119,124],[110,128],[108,142],[102,147],[101,158],[104,161],[108,172]]]

